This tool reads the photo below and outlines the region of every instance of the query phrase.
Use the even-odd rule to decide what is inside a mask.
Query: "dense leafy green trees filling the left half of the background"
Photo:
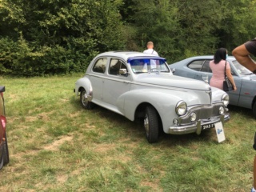
[[[26,45],[2,66],[23,75],[85,71],[98,52],[123,49],[121,5],[121,0],[2,0],[0,41],[10,37],[18,47]],[[26,67],[19,70],[21,62]]]

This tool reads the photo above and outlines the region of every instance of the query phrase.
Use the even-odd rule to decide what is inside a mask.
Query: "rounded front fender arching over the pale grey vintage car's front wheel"
[[[123,109],[123,114],[126,118],[129,118],[131,121],[134,121],[134,114],[139,104],[143,102],[150,103],[158,110],[158,114],[161,117],[166,114],[174,115],[175,106],[181,100],[185,101],[188,106],[196,104],[209,104],[210,96],[204,91],[200,91],[201,94],[205,94],[205,98],[202,99],[198,97],[198,94],[194,92],[188,92],[187,90],[166,90],[166,89],[141,89],[141,90],[131,90],[122,94],[118,98],[117,105],[119,108]]]

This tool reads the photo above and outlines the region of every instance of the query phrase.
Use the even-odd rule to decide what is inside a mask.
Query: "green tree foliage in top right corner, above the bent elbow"
[[[233,50],[236,46],[256,37],[256,1],[229,0],[222,18],[221,27],[216,30],[220,38],[218,46]]]

